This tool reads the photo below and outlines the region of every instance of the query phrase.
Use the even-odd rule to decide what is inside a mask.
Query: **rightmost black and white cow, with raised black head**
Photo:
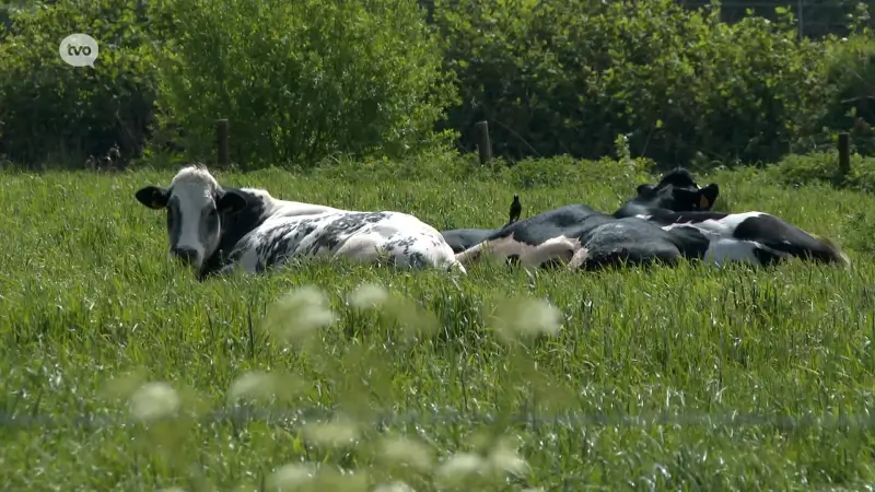
[[[769,266],[795,257],[850,267],[848,256],[831,241],[769,213],[710,211],[718,194],[718,185],[700,189],[686,169],[675,169],[657,185],[639,186],[638,196],[614,216],[644,219],[665,231],[695,229],[712,243],[704,259],[718,265],[746,261]]]

